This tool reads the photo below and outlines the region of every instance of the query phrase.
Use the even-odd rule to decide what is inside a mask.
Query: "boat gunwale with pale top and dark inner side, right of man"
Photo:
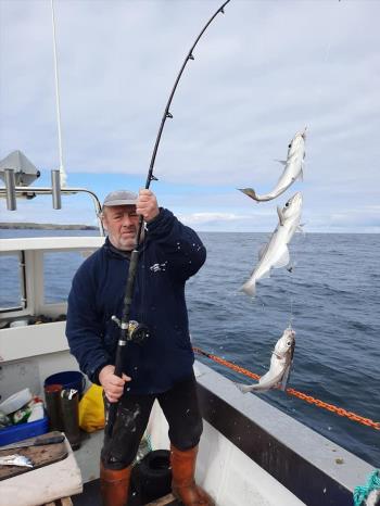
[[[202,363],[203,418],[307,506],[351,504],[373,468]]]

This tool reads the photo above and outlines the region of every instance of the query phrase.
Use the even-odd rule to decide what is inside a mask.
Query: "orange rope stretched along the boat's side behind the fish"
[[[229,369],[235,370],[236,372],[239,372],[240,375],[248,376],[250,378],[253,378],[255,380],[259,379],[259,376],[251,372],[248,369],[244,369],[243,367],[237,366],[236,364],[232,364],[228,360],[225,360],[224,358],[220,358],[217,355],[213,355],[212,353],[206,353],[200,347],[193,346],[194,353],[198,353],[199,355],[206,356],[207,358],[211,358],[212,360],[228,367]],[[302,401],[307,402],[308,404],[314,404],[317,407],[321,407],[324,409],[327,409],[331,413],[334,413],[335,415],[346,417],[350,420],[357,421],[358,423],[362,423],[367,427],[371,427],[375,430],[380,430],[380,421],[373,421],[370,418],[365,418],[363,416],[356,415],[353,412],[347,412],[346,409],[343,409],[342,407],[334,406],[333,404],[328,404],[325,403],[324,401],[320,401],[319,399],[312,397],[312,395],[307,395],[303,392],[299,392],[297,390],[294,389],[287,389],[286,392],[289,395],[293,395],[294,397],[301,399]]]

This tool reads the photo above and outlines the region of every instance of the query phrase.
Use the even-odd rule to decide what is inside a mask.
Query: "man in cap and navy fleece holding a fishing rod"
[[[119,378],[114,375],[119,328],[112,316],[122,317],[139,215],[145,227],[130,320],[147,326],[149,337],[142,343],[127,342]],[[105,408],[119,401],[113,437],[105,437],[101,453],[103,504],[126,504],[131,463],[157,399],[169,426],[174,494],[186,506],[214,505],[194,482],[202,418],[185,301],[185,283],[203,265],[205,248],[191,228],[159,207],[150,190],[140,190],[139,195],[110,193],[101,217],[107,238],[74,277],[66,336],[80,369],[103,387]]]

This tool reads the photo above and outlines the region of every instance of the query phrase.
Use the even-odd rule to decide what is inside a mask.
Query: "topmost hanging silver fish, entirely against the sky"
[[[276,197],[283,193],[295,181],[295,179],[303,179],[303,165],[305,160],[305,139],[306,128],[303,132],[297,132],[291,140],[288,148],[287,160],[279,162],[284,165],[284,169],[277,181],[276,187],[269,192],[263,195],[257,195],[255,190],[252,188],[239,188],[240,191],[245,193],[256,202],[265,202],[268,200],[276,199]]]

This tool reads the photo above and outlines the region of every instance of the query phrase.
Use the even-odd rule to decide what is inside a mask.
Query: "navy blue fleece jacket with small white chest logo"
[[[186,280],[203,265],[206,251],[198,235],[161,208],[147,225],[130,319],[148,325],[142,345],[128,342],[124,372],[130,393],[159,393],[191,375],[194,362],[185,301]],[[93,382],[114,364],[129,267],[128,256],[109,239],[77,270],[68,295],[66,336],[80,370]]]

